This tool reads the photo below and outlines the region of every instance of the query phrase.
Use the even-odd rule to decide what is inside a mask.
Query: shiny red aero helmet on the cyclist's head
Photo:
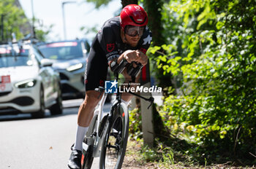
[[[127,25],[145,26],[148,24],[146,11],[137,4],[129,4],[120,13],[121,28],[124,30]]]

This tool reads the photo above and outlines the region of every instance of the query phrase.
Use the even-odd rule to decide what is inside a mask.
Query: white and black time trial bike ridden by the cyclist
[[[115,76],[118,82],[118,74]],[[99,96],[105,91],[104,87],[96,90],[99,91]],[[144,98],[137,93],[129,93],[150,102],[148,108],[154,103],[152,97]],[[117,90],[110,113],[104,115],[103,106],[107,95],[108,93],[103,94],[94,110],[94,117],[83,140],[82,169],[91,168],[94,157],[99,157],[99,169],[120,169],[123,164],[129,133],[128,109],[127,105],[121,102],[122,93]]]

